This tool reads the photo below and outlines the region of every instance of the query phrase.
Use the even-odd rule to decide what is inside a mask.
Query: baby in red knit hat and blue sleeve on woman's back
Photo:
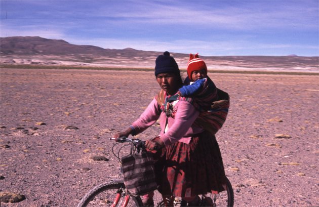
[[[218,100],[217,88],[207,76],[207,66],[198,53],[189,55],[184,85],[179,89],[179,95],[193,98],[200,111],[210,110],[212,103]]]

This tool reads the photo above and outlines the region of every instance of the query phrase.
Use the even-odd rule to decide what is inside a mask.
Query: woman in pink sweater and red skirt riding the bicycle
[[[190,98],[178,96],[183,86],[180,70],[169,52],[156,58],[155,76],[162,88],[142,115],[114,138],[136,135],[160,118],[161,133],[146,141],[147,148],[157,149],[155,172],[158,191],[182,197],[189,206],[199,202],[198,194],[223,191],[225,172],[215,136],[194,121],[200,114]],[[152,204],[152,193],[143,196]]]

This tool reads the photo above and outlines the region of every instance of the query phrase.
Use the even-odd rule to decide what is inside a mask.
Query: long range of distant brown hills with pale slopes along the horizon
[[[73,45],[62,39],[38,36],[0,37],[1,64],[87,65],[103,67],[153,68],[162,52],[104,49]],[[173,53],[180,68],[188,54]],[[317,71],[319,57],[287,56],[201,56],[209,69],[220,70],[309,70]]]

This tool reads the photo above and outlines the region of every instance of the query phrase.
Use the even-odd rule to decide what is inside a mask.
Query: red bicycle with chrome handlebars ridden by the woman
[[[110,140],[115,140],[116,143],[112,147],[112,152],[115,157],[119,158],[119,151],[123,148],[121,147],[117,153],[114,153],[114,146],[118,143],[133,143],[137,150],[141,150],[145,144],[145,141],[139,139],[130,139],[126,137],[122,138],[110,138]],[[202,200],[204,197],[210,197],[212,202],[211,206],[233,206],[234,195],[233,189],[230,181],[226,178],[225,190],[218,193],[212,194],[207,193],[206,195],[200,195]],[[163,196],[156,191],[154,195],[154,206],[166,207],[166,206],[186,206],[186,201],[181,198],[173,196]],[[126,191],[124,180],[112,180],[111,182],[106,182],[97,185],[91,189],[78,203],[77,207],[86,206],[143,206],[142,199],[140,196],[133,196]]]

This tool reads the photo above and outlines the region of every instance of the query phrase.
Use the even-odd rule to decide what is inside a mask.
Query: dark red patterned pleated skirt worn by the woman
[[[203,132],[189,144],[176,142],[154,154],[158,191],[167,196],[191,197],[221,192],[224,165],[214,135]]]

